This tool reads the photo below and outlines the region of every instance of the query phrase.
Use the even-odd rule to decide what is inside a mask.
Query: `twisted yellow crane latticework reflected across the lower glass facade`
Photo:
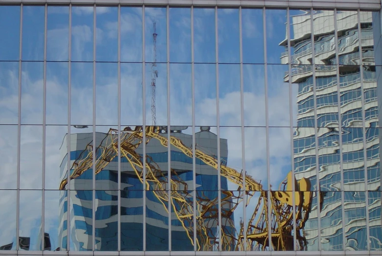
[[[131,129],[129,130],[129,129],[130,128],[127,128],[127,129],[125,128],[123,131],[121,131],[121,133],[123,134],[123,136],[121,136],[121,152],[122,152],[122,154],[124,154],[124,156],[128,160],[130,159],[129,162],[133,167],[138,166],[138,167],[140,167],[140,169],[143,169],[142,157],[139,156],[135,152],[135,149],[137,149],[138,146],[143,142],[142,127],[136,127],[136,129],[134,131]],[[110,129],[109,133],[108,133],[109,136],[106,136],[106,137],[111,138],[110,142],[105,143],[107,146],[101,146],[103,144],[104,140],[106,139],[106,137],[105,137],[105,139],[102,140],[101,144],[97,147],[97,149],[101,148],[103,150],[103,152],[100,154],[99,159],[96,161],[95,174],[97,174],[104,167],[106,167],[108,165],[108,163],[110,161],[112,161],[112,159],[117,156],[117,154],[118,154],[118,141],[117,142],[114,141],[118,137],[117,132],[118,131],[115,129]],[[168,145],[167,138],[159,134],[159,128],[158,127],[146,127],[145,133],[146,133],[146,137],[147,137],[147,142],[151,138],[155,138],[155,139],[158,139],[163,146],[167,147],[167,145]],[[170,144],[177,147],[178,149],[181,149],[186,155],[192,157],[191,149],[187,148],[183,144],[183,142],[181,140],[179,140],[178,138],[176,138],[174,136],[170,136]],[[91,148],[92,147],[89,144],[86,147],[86,149],[83,152],[81,152],[80,157],[77,159],[79,162],[76,163],[76,161],[77,161],[76,160],[73,163],[72,168],[74,169],[74,171],[71,174],[71,178],[78,177],[84,171],[86,171],[87,169],[89,169],[92,166],[93,153],[90,151]],[[113,153],[113,151],[114,151],[114,153]],[[82,159],[81,155],[85,155],[85,154],[87,154],[86,157],[84,157]],[[98,155],[98,152],[96,154]],[[131,155],[134,157],[129,158],[128,155]],[[202,160],[207,165],[210,165],[214,169],[217,169],[217,162],[216,162],[216,159],[214,157],[206,155],[205,153],[203,153],[199,149],[195,150],[195,156],[197,158],[199,158],[200,160]],[[150,158],[148,156],[147,156],[147,158],[150,160]],[[131,159],[134,159],[134,160],[132,161]],[[151,161],[151,163],[153,163],[152,159],[150,161]],[[149,187],[148,181],[151,181],[151,182],[156,184],[156,188],[160,188],[162,191],[165,191],[165,189],[163,189],[163,185],[166,186],[166,184],[167,184],[166,175],[164,175],[159,170],[159,167],[156,164],[155,164],[156,166],[154,167],[151,163],[146,163],[146,168],[148,170],[148,173],[146,176],[146,188]],[[153,172],[152,170],[155,170],[155,171]],[[143,183],[142,171],[139,172],[136,168],[134,168],[134,171],[136,172],[137,177]],[[175,171],[171,171],[171,172],[176,174]],[[233,193],[231,193],[230,195],[228,195],[227,197],[222,199],[222,205],[225,203],[229,203],[229,204],[233,205],[233,207],[228,208],[228,210],[222,208],[222,216],[226,217],[227,220],[231,220],[230,225],[234,226],[233,221],[230,218],[230,216],[232,215],[233,211],[236,209],[238,204],[243,199],[243,196],[242,196],[242,189],[243,189],[242,173],[239,173],[238,171],[236,171],[232,168],[226,167],[224,165],[220,165],[220,172],[221,172],[222,176],[226,177],[231,182],[239,185],[239,188],[240,188],[239,196],[237,196],[237,198],[236,198],[236,199],[238,199],[237,203],[235,203],[235,204],[233,203],[232,198],[235,198]],[[288,178],[287,178],[287,186],[290,187],[291,182],[292,182],[291,172],[289,174],[288,174]],[[161,180],[161,181],[158,180],[157,176],[162,177],[163,180]],[[262,247],[262,249],[265,250],[265,247],[267,245],[266,244],[266,240],[267,240],[266,236],[267,236],[267,232],[268,232],[268,222],[267,222],[267,217],[268,217],[267,205],[268,205],[268,202],[267,202],[267,197],[266,197],[267,194],[265,191],[263,191],[262,185],[259,184],[254,179],[252,179],[251,176],[245,175],[245,179],[246,179],[245,188],[247,191],[246,192],[246,196],[247,196],[246,205],[248,205],[250,198],[253,196],[253,194],[251,194],[250,191],[260,191],[261,192],[258,204],[257,204],[256,209],[255,209],[255,212],[252,214],[252,217],[251,217],[250,221],[248,222],[248,227],[246,230],[247,239],[249,242],[248,247],[254,248],[254,246],[255,246],[254,244],[257,243],[258,249],[260,249],[260,247]],[[294,179],[294,181],[295,181],[295,179]],[[303,183],[305,182],[304,183],[305,186],[307,186],[308,183],[310,186],[310,182],[308,180],[300,180],[299,183],[301,181],[303,181]],[[175,191],[178,188],[179,184],[183,184],[183,186],[187,185],[185,182],[182,182],[180,178],[176,182],[178,182],[178,183],[175,183],[175,181],[173,181],[171,179],[171,187]],[[67,184],[67,180],[64,179],[60,184],[60,189],[64,189],[66,184]],[[187,188],[187,186],[184,188]],[[186,190],[184,190],[183,192],[185,192],[185,191]],[[166,204],[165,204],[165,202],[169,202],[167,193],[165,193],[165,194],[163,194],[163,193],[161,194],[160,192],[154,192],[154,193],[155,193],[156,197],[158,198],[158,200],[160,200],[162,202],[165,209],[167,209]],[[187,195],[187,193],[186,193],[186,195]],[[304,194],[302,194],[303,198],[304,198],[304,195],[307,195],[307,198],[306,198],[307,202],[310,202],[311,201],[311,192],[304,192]],[[296,202],[297,201],[298,202],[304,201],[304,200],[300,200],[300,194],[296,194],[296,196],[298,197],[296,199]],[[173,197],[174,197],[174,200],[176,200],[177,202],[185,204],[185,206],[180,206],[180,209],[192,209],[191,205],[189,203],[187,203],[186,200],[184,199],[184,198],[186,198],[185,196],[180,195],[179,193],[178,194],[174,193]],[[272,226],[271,227],[271,237],[275,237],[275,238],[277,237],[277,242],[274,243],[273,239],[272,239],[272,244],[274,244],[274,246],[276,246],[276,244],[277,244],[276,247],[278,250],[287,249],[285,246],[285,243],[287,242],[286,236],[288,236],[287,234],[291,233],[290,227],[293,227],[293,224],[291,223],[292,205],[290,203],[292,200],[288,200],[288,198],[291,199],[291,192],[272,192],[271,191],[271,209],[272,209],[272,213],[271,213],[271,217],[272,217],[272,219],[271,219],[271,223],[272,223],[272,225],[271,225]],[[197,203],[199,203],[199,200],[202,202],[203,200],[201,200],[201,199],[202,198],[199,198],[199,196],[197,196]],[[253,222],[255,222],[256,215],[258,213],[260,204],[262,204],[262,202],[263,202],[262,214],[259,217],[259,219],[257,220],[256,224],[253,224]],[[216,202],[211,202],[209,204],[209,206],[207,206],[207,207],[201,206],[201,208],[200,208],[199,205],[197,207],[197,209],[199,211],[199,214],[197,215],[198,225],[200,226],[200,229],[201,229],[200,232],[198,231],[198,233],[200,233],[201,237],[204,237],[204,235],[207,237],[205,240],[206,244],[203,243],[204,247],[205,246],[210,247],[216,241],[216,237],[214,235],[211,235],[211,237],[209,237],[208,234],[211,234],[212,232],[210,232],[206,228],[206,225],[204,225],[204,220],[203,220],[203,218],[205,218],[207,221],[211,221],[212,219],[214,219],[214,218],[211,218],[212,215],[208,214],[209,212],[212,211],[212,207],[214,206],[214,203],[216,203]],[[304,205],[306,205],[306,204],[307,203],[305,203]],[[176,210],[176,204],[172,200],[171,200],[171,205],[174,208],[174,210]],[[297,205],[298,204],[296,203],[296,207],[297,207]],[[298,205],[298,209],[296,209],[296,210],[298,210],[298,212],[300,212],[301,211],[301,210],[299,210],[300,208],[301,208],[301,205]],[[199,209],[204,209],[204,210],[200,211]],[[306,210],[307,210],[306,211],[307,213],[305,214],[305,216],[308,216],[310,209],[306,209]],[[177,211],[179,211],[179,210],[177,210]],[[182,215],[179,215],[177,211],[175,211],[175,213],[177,214],[177,218],[179,220],[181,220],[181,219],[186,220],[186,219],[188,219],[188,217],[190,217],[192,215],[192,213],[188,213],[188,214],[184,213]],[[183,210],[183,211],[185,211],[185,210]],[[215,215],[217,215],[217,214],[215,214]],[[300,216],[300,215],[301,214],[299,213],[298,216]],[[216,216],[215,216],[215,218],[216,218]],[[305,217],[303,220],[298,220],[300,223],[300,225],[298,227],[299,230],[304,228],[306,220],[307,220],[307,217]],[[181,223],[182,223],[182,226],[187,231],[188,236],[191,240],[191,243],[193,243],[193,239],[191,238],[191,237],[193,237],[193,231],[190,230],[190,227],[192,225],[187,225],[188,227],[186,227],[184,225],[183,221],[181,221]],[[254,230],[254,232],[253,232],[253,230]],[[221,235],[222,243],[224,243],[225,245],[228,246],[228,248],[226,248],[227,250],[228,249],[231,250],[230,247],[231,247],[231,245],[233,245],[232,241],[234,241],[234,240],[237,241],[237,245],[235,246],[235,250],[242,250],[243,249],[243,248],[240,248],[243,246],[242,245],[243,232],[244,232],[244,229],[240,228],[240,234],[238,235],[238,237],[236,237],[236,234],[232,234],[232,233],[226,234],[225,232],[222,232],[222,235]],[[286,232],[286,234],[284,234],[283,232]],[[211,239],[211,240],[208,241],[209,239]],[[299,239],[300,239],[300,236],[299,236]],[[305,238],[302,237],[301,239],[304,240]],[[202,240],[204,240],[204,239],[202,239]],[[198,240],[197,240],[197,242],[198,242]],[[301,242],[300,240],[299,240],[299,243],[300,244],[306,244],[304,242]],[[269,244],[268,244],[268,246],[269,246]],[[290,247],[290,245],[288,247]],[[198,248],[200,248],[199,244],[198,244]],[[205,249],[208,249],[208,248],[205,248]]]

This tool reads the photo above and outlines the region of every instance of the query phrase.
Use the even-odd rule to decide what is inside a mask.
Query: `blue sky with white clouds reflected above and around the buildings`
[[[22,59],[21,120],[21,174],[22,189],[42,188],[42,120],[44,75],[44,6],[24,6]],[[265,143],[265,89],[263,56],[263,11],[242,10],[243,85],[246,171],[267,187]],[[118,120],[118,9],[97,7],[96,27],[93,27],[93,7],[72,8],[72,69],[71,69],[71,122],[77,125],[93,124],[93,38],[95,33],[95,123],[96,130],[107,131]],[[153,22],[157,29],[156,116],[158,125],[167,125],[167,76],[170,82],[170,124],[191,126],[191,11],[187,8],[169,10],[169,74],[167,74],[166,8],[147,7],[144,12],[146,62],[153,61]],[[291,169],[289,139],[288,84],[283,83],[287,66],[280,65],[279,46],[286,37],[285,10],[266,11],[268,105],[270,129],[270,167],[272,189]],[[121,8],[121,123],[142,125],[142,8]],[[219,9],[218,18],[218,81],[219,118],[221,138],[228,139],[228,165],[241,171],[240,67],[239,67],[239,10]],[[195,125],[216,126],[216,67],[215,67],[215,10],[194,9],[194,85]],[[0,6],[0,34],[7,35],[0,42],[0,172],[9,177],[0,182],[1,188],[16,188],[17,113],[20,42],[20,7]],[[67,132],[68,119],[68,53],[69,7],[48,7],[47,24],[47,140],[46,186],[57,189],[60,146]],[[7,61],[7,62],[3,62]],[[145,66],[146,124],[151,124],[151,65]],[[295,86],[295,85],[293,85]],[[295,97],[297,91],[294,87]],[[294,98],[295,99],[295,98]],[[295,102],[293,102],[295,104]],[[295,117],[295,113],[293,115]],[[295,119],[293,120],[295,121]],[[28,126],[29,125],[29,126]],[[34,126],[31,126],[34,125]],[[104,126],[104,127],[102,127]],[[214,130],[214,129],[213,129]],[[91,127],[90,127],[91,131]],[[74,131],[78,132],[78,131]],[[83,131],[82,131],[83,132]],[[9,135],[8,135],[9,134]],[[16,140],[15,140],[16,138]],[[15,151],[16,150],[16,151]],[[16,155],[15,155],[16,152]],[[236,186],[230,189],[237,189]],[[2,191],[15,202],[14,191]],[[20,236],[37,239],[41,225],[41,192],[21,194]],[[58,192],[46,194],[52,202],[46,212],[46,226],[57,241]],[[6,199],[0,201],[6,203]],[[56,203],[54,203],[56,202]],[[252,207],[252,206],[249,206]],[[242,214],[239,208],[237,215]],[[9,209],[0,226],[1,244],[12,240],[15,231],[15,209]],[[236,218],[239,221],[239,217]],[[12,225],[9,225],[12,223]],[[47,223],[49,223],[47,225]],[[13,225],[14,224],[14,225]],[[238,223],[237,223],[238,224]],[[13,234],[13,235],[9,235]],[[31,248],[37,249],[32,238]]]

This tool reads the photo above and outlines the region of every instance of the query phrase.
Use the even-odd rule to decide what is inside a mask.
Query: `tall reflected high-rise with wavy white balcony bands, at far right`
[[[305,226],[308,250],[318,250],[319,242],[325,251],[367,250],[367,226],[370,250],[380,250],[381,198],[376,192],[381,178],[380,143],[372,13],[359,13],[360,30],[354,11],[337,11],[336,21],[334,11],[314,11],[312,17],[312,33],[309,11],[290,17],[292,73],[285,77],[298,87],[293,99],[298,106],[294,113],[295,175],[297,180],[309,178],[315,191]],[[282,45],[287,48],[287,40]],[[305,65],[311,64],[312,58],[314,77],[312,65]],[[288,55],[283,54],[281,61],[287,64]]]

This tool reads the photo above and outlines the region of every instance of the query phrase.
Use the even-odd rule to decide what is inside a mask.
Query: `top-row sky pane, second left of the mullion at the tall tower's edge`
[[[241,9],[243,63],[264,63],[263,9]]]

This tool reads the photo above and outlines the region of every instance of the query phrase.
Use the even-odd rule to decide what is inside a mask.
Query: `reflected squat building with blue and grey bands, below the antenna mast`
[[[170,135],[179,139],[184,146],[192,148],[192,135],[185,130],[188,127],[171,127]],[[167,138],[167,127],[161,128],[160,138]],[[143,143],[142,137],[133,138],[134,131],[131,128],[125,129],[126,134],[122,133],[121,141],[129,140],[127,144],[121,145],[124,154],[121,153],[120,159],[120,236],[122,251],[142,251],[143,250],[143,207],[146,208],[146,240],[150,241],[146,245],[146,250],[167,251],[168,250],[168,168],[171,169],[171,250],[192,251],[192,218],[189,221],[179,218],[179,214],[187,209],[192,214],[193,205],[193,159],[181,149],[170,146],[170,163],[168,162],[168,148],[161,144],[156,138],[146,138],[146,192],[145,205],[143,205],[143,182],[142,166]],[[127,135],[129,134],[129,135]],[[158,138],[159,138],[158,137]],[[71,134],[71,172],[80,169],[81,165],[86,166],[83,172],[70,181],[70,210],[71,210],[71,246],[78,251],[92,251],[92,207],[95,204],[95,250],[97,251],[116,251],[118,248],[118,151],[113,151],[113,140],[118,141],[117,133],[96,132],[95,147],[96,158],[95,166],[101,169],[95,175],[95,201],[93,202],[93,168],[88,166],[88,162],[93,161],[93,133]],[[64,142],[67,140],[64,139]],[[217,157],[217,136],[210,131],[209,127],[201,127],[195,133],[196,149],[203,149],[215,159]],[[125,146],[134,147],[134,151],[129,151]],[[113,152],[106,152],[111,149]],[[124,151],[123,149],[126,149]],[[67,150],[67,145],[62,146],[63,155]],[[117,149],[116,149],[117,150]],[[110,154],[109,154],[110,153]],[[110,159],[107,160],[107,154]],[[227,162],[228,148],[227,140],[220,139],[220,159],[221,163]],[[102,161],[108,161],[102,163]],[[137,162],[138,160],[138,162]],[[93,163],[92,163],[93,164]],[[103,166],[102,166],[103,165]],[[196,193],[198,204],[201,206],[209,205],[212,209],[210,221],[206,223],[210,236],[215,236],[217,232],[217,171],[205,164],[200,159],[195,159],[196,166]],[[67,157],[61,164],[62,177],[65,177],[67,170]],[[71,174],[72,174],[71,173]],[[222,190],[227,190],[227,179],[221,178]],[[61,203],[67,200],[67,191],[62,191]],[[178,199],[185,200],[184,205],[180,205]],[[93,203],[92,203],[93,202]],[[176,209],[176,210],[175,210]],[[200,209],[199,209],[200,210]],[[67,247],[67,236],[63,232],[66,230],[66,211],[61,208],[60,217],[60,239],[62,248]],[[208,218],[208,217],[207,217]],[[224,220],[223,220],[224,221]],[[226,220],[226,229],[233,231],[234,215]],[[63,235],[65,234],[65,235]],[[191,237],[190,237],[191,235]],[[204,239],[198,235],[198,244],[201,247],[214,247],[215,241],[210,240],[208,245],[203,244]]]

